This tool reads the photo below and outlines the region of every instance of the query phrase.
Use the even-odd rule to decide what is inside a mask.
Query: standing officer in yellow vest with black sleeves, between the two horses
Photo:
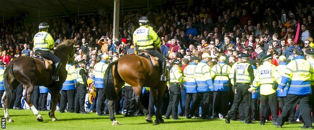
[[[86,113],[85,111],[85,95],[87,93],[87,72],[85,70],[85,63],[78,63],[80,66],[76,69],[76,94],[75,94],[75,106],[76,113]]]

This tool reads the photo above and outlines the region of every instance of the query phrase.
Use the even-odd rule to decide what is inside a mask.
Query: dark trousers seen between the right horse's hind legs
[[[132,114],[135,112],[135,100],[133,98],[133,89],[131,86],[124,87],[124,102],[123,109],[127,114]],[[150,95],[149,95],[150,98]]]

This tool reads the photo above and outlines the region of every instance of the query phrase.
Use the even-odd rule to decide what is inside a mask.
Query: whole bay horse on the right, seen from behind
[[[124,83],[127,82],[133,88],[135,101],[145,114],[145,119],[152,122],[148,110],[140,102],[140,94],[143,86],[150,87],[154,103],[156,105],[155,124],[164,122],[162,118],[162,98],[166,90],[166,81],[160,81],[160,70],[152,67],[148,58],[136,55],[124,55],[110,63],[105,73],[105,92],[108,99],[108,109],[112,125],[118,125],[113,114],[113,100],[118,99],[118,93]],[[134,99],[134,98],[133,98]]]

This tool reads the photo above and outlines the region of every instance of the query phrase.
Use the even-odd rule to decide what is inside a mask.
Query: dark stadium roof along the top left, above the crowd
[[[184,0],[176,0],[184,1]],[[120,8],[147,7],[162,4],[162,0],[120,0]],[[31,17],[70,15],[98,11],[99,8],[112,10],[114,0],[0,0],[0,17],[11,17],[27,12]]]

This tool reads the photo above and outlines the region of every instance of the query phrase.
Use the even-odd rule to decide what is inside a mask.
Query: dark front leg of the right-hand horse
[[[166,82],[159,82],[158,85],[158,91],[156,92],[157,97],[154,98],[156,99],[156,120],[160,120],[161,123],[165,122],[164,119],[162,118],[162,103],[163,103],[163,96],[165,94],[166,90]],[[155,121],[156,123],[156,121]]]

